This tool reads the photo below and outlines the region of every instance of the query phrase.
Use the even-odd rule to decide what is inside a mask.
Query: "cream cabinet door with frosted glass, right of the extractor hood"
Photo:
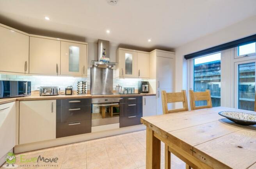
[[[120,49],[119,72],[120,77],[137,77],[137,52]]]

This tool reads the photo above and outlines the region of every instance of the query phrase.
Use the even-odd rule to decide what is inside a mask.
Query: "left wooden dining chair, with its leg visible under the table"
[[[188,111],[188,100],[186,95],[186,90],[181,90],[181,92],[176,93],[166,93],[165,90],[162,90],[162,106],[163,106],[163,113],[177,113],[181,111]],[[182,102],[183,108],[180,109],[172,109],[168,110],[168,103],[176,103]],[[168,148],[168,145],[165,144],[165,169],[171,169],[171,151]],[[186,169],[190,169],[191,167],[186,164]]]

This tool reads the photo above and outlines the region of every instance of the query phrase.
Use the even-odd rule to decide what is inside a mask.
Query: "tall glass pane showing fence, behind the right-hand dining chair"
[[[194,91],[211,91],[213,107],[220,106],[220,57],[215,53],[194,59]],[[206,101],[197,101],[196,106],[206,105]]]

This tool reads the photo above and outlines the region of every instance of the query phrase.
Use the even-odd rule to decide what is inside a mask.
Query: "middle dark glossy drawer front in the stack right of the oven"
[[[120,104],[120,116],[134,116],[142,114],[142,103],[125,103]]]

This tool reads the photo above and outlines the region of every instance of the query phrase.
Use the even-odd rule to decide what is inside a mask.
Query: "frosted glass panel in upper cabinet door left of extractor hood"
[[[79,47],[69,46],[69,72],[79,72]]]

